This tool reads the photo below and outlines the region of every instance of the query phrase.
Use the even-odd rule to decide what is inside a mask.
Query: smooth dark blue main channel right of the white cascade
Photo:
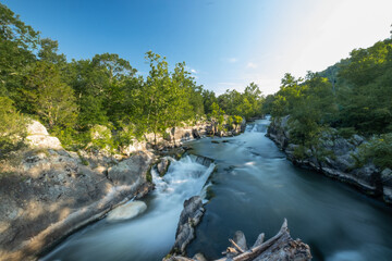
[[[310,245],[314,260],[392,260],[392,209],[295,167],[265,137],[268,124],[257,121],[228,142],[192,144],[195,153],[217,160],[218,171],[188,254],[219,258],[238,229],[252,246],[261,232],[272,237],[286,217],[292,237]]]

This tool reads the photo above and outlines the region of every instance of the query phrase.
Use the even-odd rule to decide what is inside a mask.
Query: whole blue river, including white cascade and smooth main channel
[[[161,260],[174,243],[183,201],[194,195],[206,195],[207,211],[189,256],[220,257],[237,229],[248,245],[261,232],[269,238],[286,217],[292,237],[310,246],[314,260],[392,260],[392,208],[294,166],[265,137],[268,124],[259,120],[236,137],[188,142],[192,153],[215,164],[204,166],[192,156],[173,160],[163,178],[154,173],[157,189],[144,199],[146,212],[117,223],[103,219],[41,260]]]

